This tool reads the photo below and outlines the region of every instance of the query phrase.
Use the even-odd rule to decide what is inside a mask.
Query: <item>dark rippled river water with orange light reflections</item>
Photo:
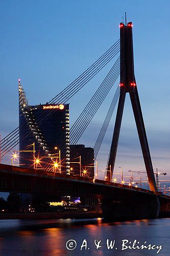
[[[112,249],[109,248],[111,241],[112,245],[114,244]],[[141,249],[143,244],[148,248]],[[128,246],[131,247],[126,248]],[[170,255],[170,219],[115,223],[108,223],[100,218],[0,220],[0,255],[168,256]]]

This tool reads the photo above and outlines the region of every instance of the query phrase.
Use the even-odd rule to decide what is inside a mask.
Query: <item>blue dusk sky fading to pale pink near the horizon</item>
[[[21,79],[29,104],[45,103],[75,80],[119,38],[119,23],[127,12],[133,23],[137,88],[153,167],[169,170],[170,151],[170,33],[169,1],[6,1],[1,17],[2,138],[18,126],[18,88]],[[68,103],[73,124],[114,60]],[[79,143],[93,147],[117,88],[114,84]],[[92,108],[92,106],[90,106]],[[98,161],[106,166],[116,111],[103,141]],[[123,115],[115,169],[144,170],[129,95]]]

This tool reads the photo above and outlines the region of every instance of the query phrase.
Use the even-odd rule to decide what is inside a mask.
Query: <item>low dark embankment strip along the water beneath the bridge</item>
[[[33,212],[21,214],[0,214],[0,220],[44,220],[44,219],[93,219],[102,218],[102,211],[86,212]]]

